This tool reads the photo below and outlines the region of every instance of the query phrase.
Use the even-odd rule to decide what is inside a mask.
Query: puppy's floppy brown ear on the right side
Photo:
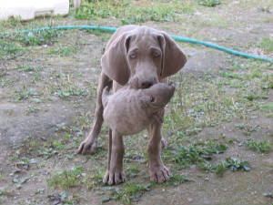
[[[161,77],[169,77],[176,74],[187,62],[187,58],[177,43],[165,32],[161,32],[158,37],[163,53]]]

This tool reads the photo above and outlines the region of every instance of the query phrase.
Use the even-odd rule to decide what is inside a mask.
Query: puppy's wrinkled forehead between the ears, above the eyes
[[[147,50],[151,46],[160,48],[158,36],[160,33],[152,28],[138,27],[130,35],[129,49]]]

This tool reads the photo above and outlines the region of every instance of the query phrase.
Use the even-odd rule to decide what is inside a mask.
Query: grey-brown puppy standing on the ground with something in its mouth
[[[166,77],[174,75],[184,67],[187,59],[177,44],[166,33],[147,26],[121,26],[106,45],[102,56],[102,72],[96,90],[96,111],[88,137],[80,144],[78,153],[91,154],[96,151],[97,136],[103,123],[102,92],[105,87],[113,85],[114,91],[130,84],[132,87],[147,88],[158,82],[166,82]],[[164,110],[162,110],[162,115]],[[162,123],[149,126],[148,165],[152,180],[167,180],[167,168],[160,158]],[[113,138],[116,138],[113,133]],[[122,142],[113,144],[112,153],[116,159],[123,150]],[[114,162],[113,162],[114,163]],[[122,168],[113,175],[120,175]]]

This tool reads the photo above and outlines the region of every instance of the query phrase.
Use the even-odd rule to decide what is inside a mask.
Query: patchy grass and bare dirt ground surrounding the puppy
[[[167,105],[162,149],[173,176],[149,182],[144,131],[125,137],[126,183],[109,187],[102,183],[106,126],[95,155],[76,149],[91,128],[100,57],[111,34],[31,30],[147,25],[272,57],[271,11],[269,0],[89,0],[67,16],[0,21],[0,204],[269,204],[271,63],[178,43],[187,66],[170,77],[177,91]],[[14,33],[22,29],[30,32]]]

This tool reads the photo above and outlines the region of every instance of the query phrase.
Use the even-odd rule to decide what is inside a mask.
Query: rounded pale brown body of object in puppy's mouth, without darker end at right
[[[136,134],[152,122],[147,110],[141,106],[137,91],[110,97],[104,118],[110,128],[122,135]]]

